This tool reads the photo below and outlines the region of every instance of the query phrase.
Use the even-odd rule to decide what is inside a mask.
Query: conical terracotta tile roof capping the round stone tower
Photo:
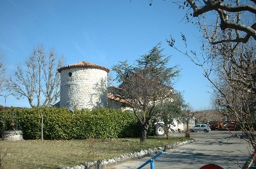
[[[104,70],[104,71],[106,71],[108,73],[110,71],[108,68],[105,68],[103,66],[92,64],[90,62],[82,61],[82,62],[78,62],[78,63],[72,64],[72,65],[63,66],[63,67],[58,69],[58,72],[61,72],[62,70],[70,69],[70,68],[95,68],[95,69]]]

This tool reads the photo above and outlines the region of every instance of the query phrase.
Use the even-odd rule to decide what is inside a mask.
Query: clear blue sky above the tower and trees
[[[133,63],[161,42],[168,66],[180,65],[174,88],[194,110],[210,108],[208,81],[202,70],[170,48],[165,39],[186,35],[188,46],[200,49],[197,27],[182,21],[184,11],[171,1],[14,1],[0,0],[0,51],[8,73],[22,64],[37,45],[53,47],[66,65],[87,61],[110,68],[119,61]],[[5,99],[0,97],[0,104]],[[9,96],[7,106],[29,107],[27,99]]]

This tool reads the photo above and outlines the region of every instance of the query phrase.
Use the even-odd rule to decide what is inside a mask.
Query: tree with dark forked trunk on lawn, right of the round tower
[[[169,57],[165,57],[162,51],[158,44],[148,54],[136,60],[136,65],[129,65],[125,61],[112,68],[117,73],[116,79],[121,83],[119,90],[113,93],[132,107],[141,123],[142,143],[146,140],[156,104],[161,99],[170,98],[172,79],[179,73],[177,66],[167,67]]]

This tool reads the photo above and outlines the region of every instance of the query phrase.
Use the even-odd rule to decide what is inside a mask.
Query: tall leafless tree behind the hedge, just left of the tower
[[[62,60],[57,58],[54,50],[46,52],[38,46],[25,61],[25,66],[18,65],[14,70],[14,76],[8,80],[9,89],[18,99],[26,97],[31,107],[50,106],[59,97],[60,75],[57,69],[61,65]]]

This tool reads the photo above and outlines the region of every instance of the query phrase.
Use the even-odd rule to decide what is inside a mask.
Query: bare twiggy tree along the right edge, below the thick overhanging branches
[[[229,30],[219,38],[231,40],[234,33]],[[185,42],[186,38],[182,35]],[[227,117],[233,117],[248,135],[247,142],[256,149],[256,58],[255,40],[246,44],[225,42],[216,45],[203,43],[202,53],[179,50],[175,40],[167,40],[169,45],[188,57],[193,63],[200,66],[204,76],[212,85],[212,94],[216,95],[220,110]],[[254,128],[253,128],[254,124]]]

